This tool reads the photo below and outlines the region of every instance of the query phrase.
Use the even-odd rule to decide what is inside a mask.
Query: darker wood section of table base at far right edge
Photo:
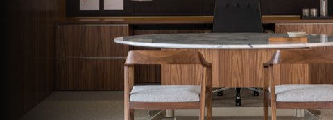
[[[333,50],[333,46],[314,47],[310,50]],[[314,64],[309,65],[309,81],[314,84],[333,84],[333,65]]]

